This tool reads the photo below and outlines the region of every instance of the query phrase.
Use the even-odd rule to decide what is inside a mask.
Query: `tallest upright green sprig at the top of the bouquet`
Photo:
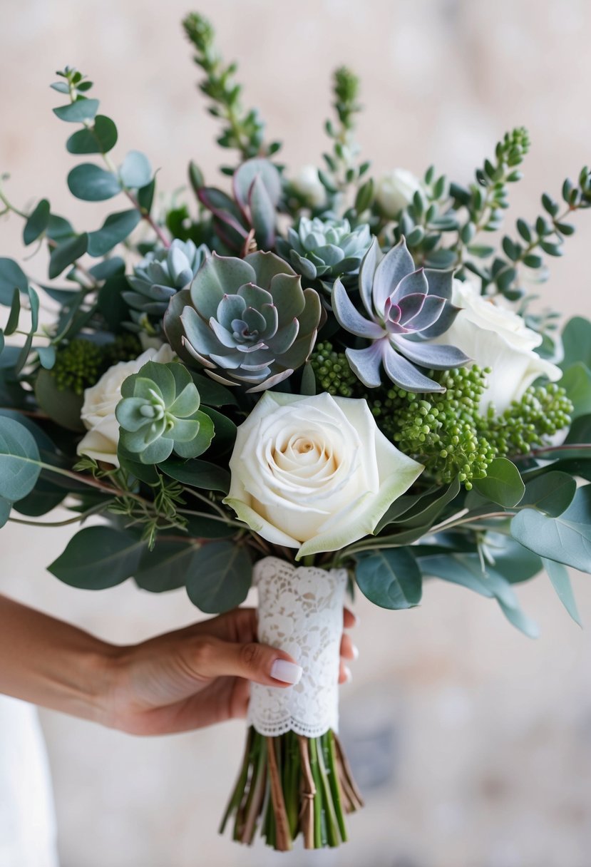
[[[199,83],[199,89],[211,99],[212,105],[208,111],[224,124],[217,140],[218,145],[236,149],[241,160],[276,153],[281,142],[265,144],[264,122],[256,108],[244,108],[240,100],[242,85],[234,77],[237,64],[224,63],[211,22],[205,16],[192,12],[185,17],[183,28],[195,48],[193,60],[205,72],[205,79]],[[227,170],[227,173],[233,173],[233,169]]]

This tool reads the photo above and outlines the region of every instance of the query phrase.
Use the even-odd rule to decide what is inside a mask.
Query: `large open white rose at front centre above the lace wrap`
[[[423,466],[376,427],[366,401],[265,392],[238,427],[225,503],[296,559],[372,533]]]

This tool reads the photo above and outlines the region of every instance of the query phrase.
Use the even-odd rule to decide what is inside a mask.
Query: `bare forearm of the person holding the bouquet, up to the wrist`
[[[0,596],[0,693],[101,721],[116,649]]]

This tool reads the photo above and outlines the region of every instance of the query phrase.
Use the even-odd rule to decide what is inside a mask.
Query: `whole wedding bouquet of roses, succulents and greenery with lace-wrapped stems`
[[[24,244],[49,252],[47,284],[0,258],[0,524],[100,517],[49,566],[75,587],[185,587],[218,613],[254,581],[259,638],[303,675],[253,686],[223,825],[334,846],[361,804],[336,733],[347,590],[399,610],[440,578],[534,636],[515,585],[546,570],[578,619],[566,566],[591,571],[591,323],[559,335],[560,312],[524,287],[591,205],[591,173],[497,243],[526,131],[467,184],[433,167],[373,178],[347,68],[323,167],[291,173],[210,23],[184,25],[237,152],[226,184],[192,163],[185,198],[156,199],[146,155],[113,159],[114,121],[65,68],[69,190],[124,204],[76,231],[0,189]],[[70,517],[39,520],[58,505]]]

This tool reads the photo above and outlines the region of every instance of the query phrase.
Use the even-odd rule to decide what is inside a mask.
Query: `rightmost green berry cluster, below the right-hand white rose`
[[[527,454],[568,427],[573,404],[555,382],[530,386],[521,401],[513,401],[502,415],[478,419],[477,426],[501,457]]]

